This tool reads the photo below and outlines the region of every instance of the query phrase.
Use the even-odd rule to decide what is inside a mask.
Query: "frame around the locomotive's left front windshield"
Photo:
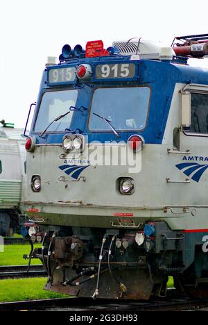
[[[39,115],[39,113],[40,113],[40,107],[41,107],[41,103],[42,103],[42,99],[43,99],[43,97],[44,97],[44,94],[46,94],[46,93],[49,93],[49,92],[61,92],[61,91],[67,91],[67,90],[77,90],[77,92],[78,92],[78,94],[77,94],[77,99],[76,99],[76,102],[78,101],[78,96],[79,96],[79,90],[78,89],[74,89],[74,88],[69,88],[69,87],[67,87],[67,88],[65,88],[65,87],[61,87],[61,88],[51,88],[51,89],[49,89],[49,88],[46,88],[46,89],[44,89],[43,91],[42,91],[42,93],[40,94],[40,97],[39,97],[39,101],[38,101],[38,103],[37,103],[37,110],[36,110],[36,113],[35,113],[35,116],[34,116],[34,122],[33,122],[33,126],[32,126],[32,128],[31,128],[31,130],[32,130],[32,133],[34,134],[34,135],[40,135],[44,130],[42,130],[42,131],[35,131],[35,124],[36,124],[36,122],[37,122],[37,117],[38,117],[38,115]],[[74,106],[76,106],[76,103],[75,103],[75,105]],[[70,107],[70,106],[69,106]],[[66,112],[67,113],[67,112]],[[72,117],[71,117],[71,125],[73,124],[73,119],[74,119],[74,112],[71,112],[72,113]],[[57,115],[57,117],[58,117],[58,115]],[[52,122],[52,121],[51,121]],[[50,122],[49,122],[50,123]],[[70,125],[70,126],[71,126]],[[70,127],[69,126],[69,127]],[[65,134],[66,133],[66,131],[65,130],[63,130],[63,131],[46,131],[46,133],[45,134]]]

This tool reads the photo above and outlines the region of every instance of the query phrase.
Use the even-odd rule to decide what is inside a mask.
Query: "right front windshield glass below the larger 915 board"
[[[150,88],[98,88],[94,92],[89,116],[89,130],[110,131],[103,119],[116,130],[142,130],[146,126]]]

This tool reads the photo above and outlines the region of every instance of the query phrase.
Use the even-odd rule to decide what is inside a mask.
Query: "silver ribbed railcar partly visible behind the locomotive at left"
[[[0,235],[12,235],[19,231],[26,151],[23,130],[4,120],[0,123]]]

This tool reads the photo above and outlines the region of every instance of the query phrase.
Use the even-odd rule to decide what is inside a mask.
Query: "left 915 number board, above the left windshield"
[[[62,69],[49,70],[49,83],[67,83],[76,79],[76,68],[67,67]]]

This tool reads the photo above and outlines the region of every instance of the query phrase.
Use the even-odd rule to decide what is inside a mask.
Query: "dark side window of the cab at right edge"
[[[191,133],[208,133],[208,94],[191,93]]]

